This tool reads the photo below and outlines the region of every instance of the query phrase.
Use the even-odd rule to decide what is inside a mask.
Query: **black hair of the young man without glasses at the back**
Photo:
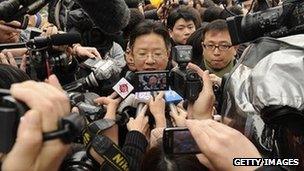
[[[176,21],[181,18],[185,21],[193,21],[195,28],[199,28],[201,25],[201,18],[196,9],[189,6],[181,6],[170,12],[167,18],[167,27],[172,30]]]

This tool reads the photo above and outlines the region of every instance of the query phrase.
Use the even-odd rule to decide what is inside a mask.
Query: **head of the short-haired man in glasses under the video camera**
[[[231,71],[237,47],[232,46],[225,20],[215,20],[206,26],[202,46],[205,69],[219,78]]]

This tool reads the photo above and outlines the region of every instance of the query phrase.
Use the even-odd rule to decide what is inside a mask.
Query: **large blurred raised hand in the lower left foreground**
[[[26,81],[12,85],[12,96],[25,102],[30,110],[21,118],[16,143],[4,158],[2,170],[59,168],[68,145],[59,139],[43,142],[42,133],[57,130],[58,119],[70,112],[70,105],[54,75],[48,83]]]

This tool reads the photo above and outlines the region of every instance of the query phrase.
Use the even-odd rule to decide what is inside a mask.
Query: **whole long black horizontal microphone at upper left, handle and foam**
[[[70,45],[79,43],[81,37],[77,33],[64,33],[64,34],[53,34],[49,37],[35,37],[29,40],[27,46],[46,47],[46,46],[60,46]]]

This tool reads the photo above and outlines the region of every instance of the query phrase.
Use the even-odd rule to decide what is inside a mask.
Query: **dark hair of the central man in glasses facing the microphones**
[[[170,36],[166,29],[166,27],[163,25],[163,23],[159,21],[154,20],[144,20],[143,22],[136,25],[132,33],[130,34],[130,48],[133,49],[133,45],[135,43],[136,38],[142,35],[147,35],[155,33],[157,35],[160,35],[163,37],[166,48],[169,50],[171,48],[171,42],[170,42]]]

